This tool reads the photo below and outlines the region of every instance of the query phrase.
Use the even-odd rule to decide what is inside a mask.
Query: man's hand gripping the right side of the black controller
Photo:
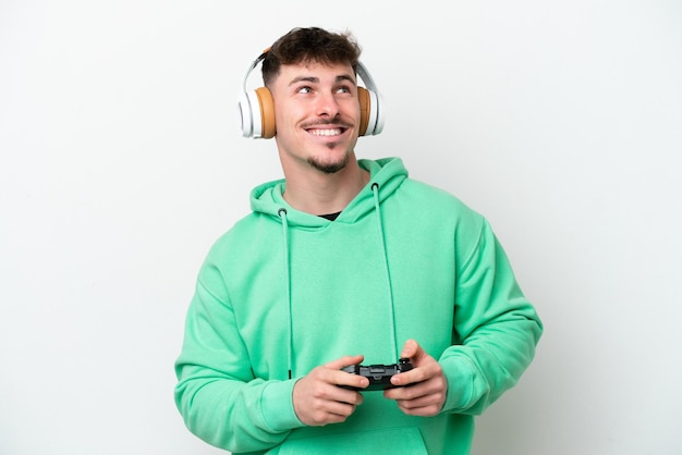
[[[435,416],[442,409],[448,395],[448,380],[438,361],[429,356],[414,340],[407,340],[401,357],[409,357],[414,367],[391,378],[393,385],[383,396],[394,399],[398,407],[409,416]]]

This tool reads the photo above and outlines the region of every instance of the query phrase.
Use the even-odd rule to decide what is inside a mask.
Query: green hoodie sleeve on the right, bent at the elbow
[[[516,383],[543,333],[485,220],[456,278],[454,329],[458,344],[439,360],[448,378],[443,411],[477,415]]]

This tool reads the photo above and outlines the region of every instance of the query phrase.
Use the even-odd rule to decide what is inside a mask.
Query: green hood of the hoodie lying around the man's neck
[[[366,217],[375,209],[375,195],[373,187],[378,185],[379,204],[388,198],[407,177],[400,158],[383,158],[379,160],[358,160],[362,169],[369,172],[369,183],[355,196],[343,209],[334,223],[353,223]],[[305,213],[292,208],[282,196],[285,188],[283,179],[267,182],[256,186],[251,192],[251,208],[255,213],[261,213],[280,219],[281,209],[287,210],[289,228],[317,229],[324,228],[330,221],[310,213]]]

